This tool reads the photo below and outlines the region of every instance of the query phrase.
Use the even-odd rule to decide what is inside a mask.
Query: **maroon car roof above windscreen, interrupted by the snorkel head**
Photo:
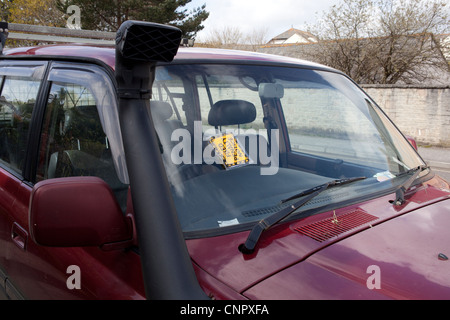
[[[115,48],[113,46],[56,44],[7,49],[4,54],[5,56],[43,56],[97,59],[107,64],[112,69],[115,68]],[[317,63],[265,53],[229,49],[180,47],[177,55],[175,56],[174,62],[186,63],[189,61],[233,61],[242,63],[288,64],[307,68],[333,70]]]

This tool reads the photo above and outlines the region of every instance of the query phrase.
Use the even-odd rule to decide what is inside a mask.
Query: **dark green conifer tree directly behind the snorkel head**
[[[81,9],[83,29],[117,31],[126,20],[151,21],[170,24],[181,29],[184,37],[193,38],[203,29],[203,21],[209,16],[206,5],[191,11],[185,9],[192,0],[68,0],[59,8],[66,12],[70,5]]]

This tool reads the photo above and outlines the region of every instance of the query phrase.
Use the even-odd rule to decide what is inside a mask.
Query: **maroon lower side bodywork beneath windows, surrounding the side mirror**
[[[0,177],[7,176],[0,169]],[[143,299],[142,271],[139,255],[133,250],[102,251],[99,248],[52,248],[37,245],[29,236],[28,205],[32,188],[11,180],[2,186],[13,186],[1,192],[2,250],[0,261],[7,270],[9,285],[26,299]],[[2,190],[3,191],[3,190]],[[12,196],[11,193],[14,195]],[[5,199],[5,194],[10,194]],[[14,200],[12,200],[13,198]],[[7,204],[12,205],[7,207]],[[5,208],[5,209],[3,209]],[[5,217],[8,221],[4,223]],[[23,234],[14,232],[20,228]],[[5,230],[6,229],[6,230]],[[21,237],[24,245],[21,246]],[[120,261],[120,263],[118,263]],[[82,286],[70,290],[69,266],[80,266]],[[89,270],[86,267],[89,266]]]

